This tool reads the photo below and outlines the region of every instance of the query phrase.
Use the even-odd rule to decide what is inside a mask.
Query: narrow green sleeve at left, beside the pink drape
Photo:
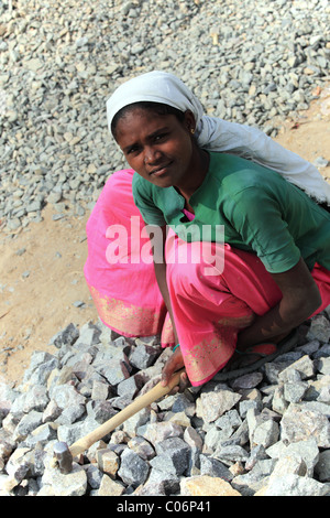
[[[166,225],[162,211],[156,207],[154,203],[152,185],[148,185],[148,182],[139,176],[138,173],[134,173],[133,175],[132,192],[134,203],[139,208],[144,223],[157,226]]]

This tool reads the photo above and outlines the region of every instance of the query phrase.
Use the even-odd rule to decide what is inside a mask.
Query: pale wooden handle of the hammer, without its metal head
[[[182,369],[175,373],[173,377],[170,378],[168,385],[166,385],[166,387],[163,387],[160,381],[155,387],[153,387],[146,393],[138,397],[135,401],[133,401],[127,408],[118,412],[116,416],[113,416],[113,418],[109,419],[109,421],[106,421],[96,430],[94,430],[92,432],[88,433],[87,435],[85,435],[84,438],[79,439],[74,444],[72,444],[72,446],[69,447],[69,451],[73,457],[79,455],[80,453],[84,453],[94,443],[96,443],[97,441],[102,439],[105,435],[112,432],[112,430],[114,430],[117,427],[119,427],[124,421],[127,421],[127,419],[131,418],[143,408],[147,407],[152,402],[156,401],[160,398],[163,398],[168,392],[170,392],[170,390],[176,385],[179,384],[180,375],[184,371],[185,369]]]

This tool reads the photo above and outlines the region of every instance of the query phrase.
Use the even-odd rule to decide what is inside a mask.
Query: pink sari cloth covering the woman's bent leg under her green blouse
[[[282,293],[256,256],[228,245],[212,245],[224,257],[223,271],[206,274],[208,260],[177,262],[183,244],[172,236],[167,253],[167,280],[186,370],[193,385],[201,385],[224,367],[235,350],[239,332],[255,315],[275,306]],[[190,244],[188,248],[200,244]],[[193,253],[194,256],[194,253]],[[193,257],[191,255],[188,257]],[[330,272],[312,272],[322,295],[322,311],[330,303]]]

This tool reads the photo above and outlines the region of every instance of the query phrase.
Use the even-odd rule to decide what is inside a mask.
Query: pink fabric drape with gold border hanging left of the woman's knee
[[[144,223],[132,196],[133,170],[113,173],[87,222],[84,273],[101,321],[123,336],[162,335],[174,344],[167,310],[156,283]]]

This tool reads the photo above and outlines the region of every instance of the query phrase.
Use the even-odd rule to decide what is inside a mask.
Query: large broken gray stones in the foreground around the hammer
[[[73,444],[153,387],[170,349],[69,324],[19,387],[0,384],[0,496],[329,496],[330,306],[258,370],[167,396],[89,447]],[[221,375],[222,376],[222,375]],[[211,492],[211,493],[210,493]]]

